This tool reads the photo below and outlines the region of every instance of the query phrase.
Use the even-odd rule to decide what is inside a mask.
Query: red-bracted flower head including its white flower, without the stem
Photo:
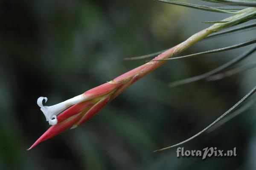
[[[51,126],[35,143],[29,148],[32,149],[41,141],[45,141],[52,138],[55,135],[67,130],[69,128],[75,128],[80,125],[81,120],[88,115],[93,115],[99,111],[107,101],[111,94],[118,89],[120,84],[105,83],[97,86],[93,89],[84,92],[74,98],[67,101],[61,102],[51,107],[46,107],[47,112],[43,111],[41,102],[43,100],[47,101],[47,98],[38,98],[38,106],[44,112],[47,121],[54,118],[54,121],[49,121]],[[71,106],[72,105],[72,106]],[[65,109],[65,110],[64,110]],[[64,110],[64,111],[63,111]],[[63,112],[62,112],[63,111]],[[58,115],[58,116],[56,116]]]

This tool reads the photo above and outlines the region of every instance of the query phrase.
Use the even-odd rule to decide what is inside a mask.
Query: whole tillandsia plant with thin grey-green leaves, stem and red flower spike
[[[182,2],[176,2],[171,0],[159,0],[159,1],[163,3],[173,4],[173,5],[205,10],[209,12],[220,12],[220,13],[227,13],[227,14],[233,14],[233,15],[231,17],[227,17],[226,19],[220,20],[220,21],[204,22],[204,23],[213,23],[213,25],[192,35],[187,40],[183,41],[182,43],[170,49],[166,49],[161,52],[155,52],[149,55],[143,55],[143,56],[134,57],[134,58],[125,58],[126,60],[136,60],[136,59],[150,58],[157,55],[154,59],[147,61],[147,63],[143,64],[142,66],[132,69],[131,71],[126,72],[125,74],[120,75],[119,77],[114,78],[113,80],[108,81],[105,84],[102,84],[93,89],[90,89],[84,92],[83,94],[78,95],[74,98],[71,98],[67,101],[48,107],[48,106],[44,106],[43,104],[44,101],[47,102],[46,97],[38,98],[37,104],[39,107],[41,107],[41,111],[44,113],[46,120],[49,121],[49,124],[51,125],[51,127],[49,127],[49,129],[43,135],[41,135],[41,137],[38,138],[37,141],[35,141],[35,143],[29,148],[29,150],[35,147],[41,141],[45,141],[49,138],[52,138],[55,135],[62,133],[64,130],[67,130],[69,128],[72,129],[77,126],[80,126],[85,121],[90,119],[93,115],[95,115],[97,112],[99,112],[99,110],[102,109],[108,102],[116,98],[116,96],[122,93],[126,88],[128,88],[135,81],[138,81],[140,78],[143,78],[145,75],[147,75],[148,73],[158,68],[159,66],[161,66],[163,63],[167,61],[180,59],[180,58],[189,58],[189,57],[215,53],[215,52],[222,52],[222,51],[236,49],[242,46],[248,46],[256,43],[256,37],[253,37],[251,40],[247,40],[246,42],[241,42],[239,44],[227,46],[221,49],[212,49],[206,52],[199,52],[196,54],[174,57],[175,55],[179,54],[180,52],[183,52],[184,50],[186,50],[187,48],[189,48],[194,43],[200,40],[255,29],[256,28],[255,22],[247,25],[242,25],[242,26],[237,26],[237,25],[256,19],[256,0],[204,0],[212,3],[213,6],[196,5],[196,4],[182,3]],[[223,5],[225,7],[214,7],[216,6],[216,3],[218,3],[219,5]],[[235,6],[235,7],[226,7],[226,6]],[[231,27],[234,27],[234,28],[231,28]],[[226,29],[226,30],[221,31],[222,29]],[[232,74],[244,71],[246,69],[253,68],[256,66],[256,64],[239,67],[237,69],[229,70],[227,72],[221,72],[224,69],[227,69],[228,67],[233,66],[234,64],[243,60],[244,58],[246,58],[247,56],[249,56],[255,51],[256,51],[256,46],[254,45],[248,51],[245,51],[243,54],[239,55],[233,60],[225,63],[224,65],[210,72],[207,72],[192,78],[187,78],[184,80],[172,82],[169,84],[169,86],[173,87],[181,84],[199,81],[202,79],[217,80],[225,76],[232,75]],[[191,138],[185,141],[182,141],[178,144],[175,144],[171,147],[175,147],[180,144],[183,144],[195,138],[196,136],[200,135],[204,131],[208,130],[210,127],[218,123],[218,121],[220,121],[223,118],[226,118],[228,114],[230,114],[236,108],[238,108],[255,91],[256,91],[256,87],[254,87],[247,95],[244,96],[244,98],[242,98],[238,103],[236,103],[233,107],[231,107],[227,112],[221,115],[216,121],[214,121],[204,130],[192,136]],[[233,115],[239,114],[244,109],[252,106],[254,103],[255,102],[245,105],[244,108],[238,109]],[[228,120],[228,119],[225,119],[225,120]],[[223,122],[224,121],[222,120],[222,123]],[[161,150],[165,150],[171,147],[166,147]]]

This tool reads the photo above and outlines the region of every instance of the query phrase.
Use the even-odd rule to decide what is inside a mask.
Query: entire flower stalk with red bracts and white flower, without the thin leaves
[[[178,53],[183,52],[185,49],[189,48],[204,37],[207,37],[208,35],[218,30],[227,28],[231,24],[234,24],[233,21],[235,23],[241,22],[242,18],[251,16],[251,14],[255,11],[256,9],[254,8],[241,10],[239,14],[223,20],[229,22],[215,23],[207,29],[192,35],[183,43],[180,43],[177,46],[174,46],[171,49],[161,53],[156,58],[154,58],[153,61],[149,61],[142,66],[139,66],[129,72],[126,72],[123,75],[120,75],[112,81],[90,89],[81,95],[61,102],[60,104],[56,104],[50,107],[44,106],[43,101],[47,101],[47,98],[38,98],[38,106],[41,107],[41,110],[44,113],[47,121],[49,121],[49,124],[52,126],[49,127],[49,129],[43,135],[41,135],[41,137],[38,138],[38,140],[35,141],[35,143],[28,150],[32,149],[40,142],[52,138],[59,133],[62,133],[64,130],[75,128],[83,124],[85,121],[99,112],[99,110],[102,109],[109,101],[116,98],[116,96],[118,96],[131,84],[140,78],[143,78],[145,75],[152,72],[154,69],[157,69],[159,66],[166,62],[158,60],[170,58],[173,55],[177,55]]]

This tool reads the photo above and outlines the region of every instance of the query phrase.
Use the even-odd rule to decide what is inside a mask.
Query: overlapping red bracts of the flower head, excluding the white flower
[[[87,101],[74,104],[61,112],[61,114],[59,114],[56,118],[58,123],[49,127],[49,129],[43,135],[41,135],[41,137],[38,138],[38,140],[35,141],[35,143],[28,150],[32,149],[42,141],[52,138],[69,128],[76,127],[84,123],[108,103],[108,99],[113,93],[113,87],[117,88],[118,86],[119,84],[106,83],[85,92],[83,95]],[[102,95],[100,96],[100,94]]]

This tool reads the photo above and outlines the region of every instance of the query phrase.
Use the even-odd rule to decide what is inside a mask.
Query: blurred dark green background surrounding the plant
[[[49,127],[38,97],[47,96],[47,105],[72,98],[145,62],[123,58],[175,46],[209,26],[201,21],[227,16],[154,0],[1,0],[0,170],[255,170],[255,108],[182,146],[236,147],[236,157],[177,158],[176,148],[152,152],[214,121],[253,88],[256,70],[175,88],[168,82],[207,72],[249,47],[169,61],[81,127],[26,151]],[[183,54],[239,43],[255,33],[202,41]]]

